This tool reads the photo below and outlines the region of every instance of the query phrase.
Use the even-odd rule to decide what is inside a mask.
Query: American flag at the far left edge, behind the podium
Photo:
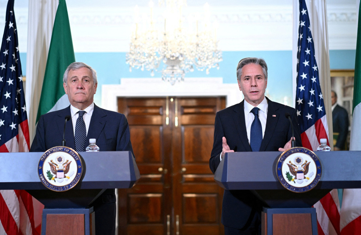
[[[0,152],[28,152],[29,142],[14,0],[9,0],[0,49]],[[0,234],[39,234],[38,206],[24,190],[0,190]]]

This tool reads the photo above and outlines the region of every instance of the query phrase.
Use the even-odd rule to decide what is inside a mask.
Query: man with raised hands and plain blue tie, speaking
[[[302,146],[296,110],[265,97],[266,62],[259,58],[240,60],[237,80],[244,100],[216,114],[213,149],[209,160],[213,173],[225,153],[284,151],[291,148],[292,129],[286,114],[292,120],[296,146]],[[261,235],[262,206],[262,202],[251,191],[225,190],[222,204],[225,234]]]

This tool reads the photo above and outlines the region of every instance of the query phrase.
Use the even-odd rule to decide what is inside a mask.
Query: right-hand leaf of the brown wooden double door
[[[219,97],[175,98],[178,127],[173,131],[173,198],[178,202],[174,213],[176,219],[179,214],[179,234],[224,232],[220,221],[223,189],[214,183],[209,169],[214,118],[224,106],[225,99]]]

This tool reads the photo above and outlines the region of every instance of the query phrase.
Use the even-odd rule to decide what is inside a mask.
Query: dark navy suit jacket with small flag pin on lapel
[[[300,129],[297,123],[297,114],[294,108],[284,104],[272,102],[267,98],[268,112],[265,134],[260,151],[278,151],[292,137],[290,121],[285,114],[291,115],[296,138],[296,146],[302,146]],[[235,152],[252,151],[248,142],[244,119],[244,101],[217,112],[214,123],[214,140],[210,170],[217,170],[222,153],[222,137],[226,137],[227,144]],[[272,167],[272,166],[270,166]],[[241,229],[251,215],[252,208],[262,209],[262,202],[248,190],[225,190],[222,204],[222,223],[225,226]]]

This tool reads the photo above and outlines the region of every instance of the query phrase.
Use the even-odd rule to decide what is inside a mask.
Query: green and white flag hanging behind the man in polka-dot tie
[[[65,0],[59,0],[36,123],[41,115],[69,106],[68,95],[65,94],[63,87],[63,75],[68,65],[73,62],[75,62],[75,55],[68,10]]]

